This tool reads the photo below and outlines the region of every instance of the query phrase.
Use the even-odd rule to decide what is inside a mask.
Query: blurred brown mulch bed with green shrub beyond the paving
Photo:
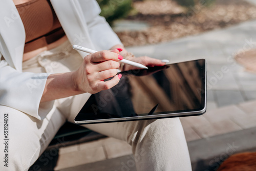
[[[241,0],[97,0],[124,46],[156,44],[256,18]]]

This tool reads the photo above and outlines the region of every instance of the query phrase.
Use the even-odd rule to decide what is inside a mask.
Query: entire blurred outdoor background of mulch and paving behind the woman
[[[97,2],[136,56],[207,60],[207,112],[181,118],[193,170],[218,170],[229,156],[256,151],[255,0]],[[55,162],[54,170],[136,170],[131,147],[108,137],[63,145]]]

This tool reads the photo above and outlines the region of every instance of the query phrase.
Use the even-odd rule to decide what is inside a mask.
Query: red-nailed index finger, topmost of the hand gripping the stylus
[[[113,51],[116,52],[118,50],[113,50]],[[96,62],[101,62],[105,60],[115,60],[115,61],[122,60],[123,57],[115,52],[111,52],[111,51],[95,52],[91,55],[91,61],[96,63]]]

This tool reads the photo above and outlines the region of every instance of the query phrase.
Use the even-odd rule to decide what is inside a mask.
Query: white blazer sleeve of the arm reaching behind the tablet
[[[80,0],[80,5],[96,50],[108,50],[115,45],[122,45],[105,18],[99,15],[101,10],[95,0]]]

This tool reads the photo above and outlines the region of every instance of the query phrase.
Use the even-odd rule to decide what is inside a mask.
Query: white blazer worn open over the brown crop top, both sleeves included
[[[72,45],[107,50],[122,45],[117,35],[99,16],[95,0],[51,0]],[[47,73],[22,72],[25,29],[11,0],[0,2],[0,105],[44,119],[54,101],[40,103]],[[87,53],[79,52],[82,57]],[[3,59],[4,58],[4,59]]]

